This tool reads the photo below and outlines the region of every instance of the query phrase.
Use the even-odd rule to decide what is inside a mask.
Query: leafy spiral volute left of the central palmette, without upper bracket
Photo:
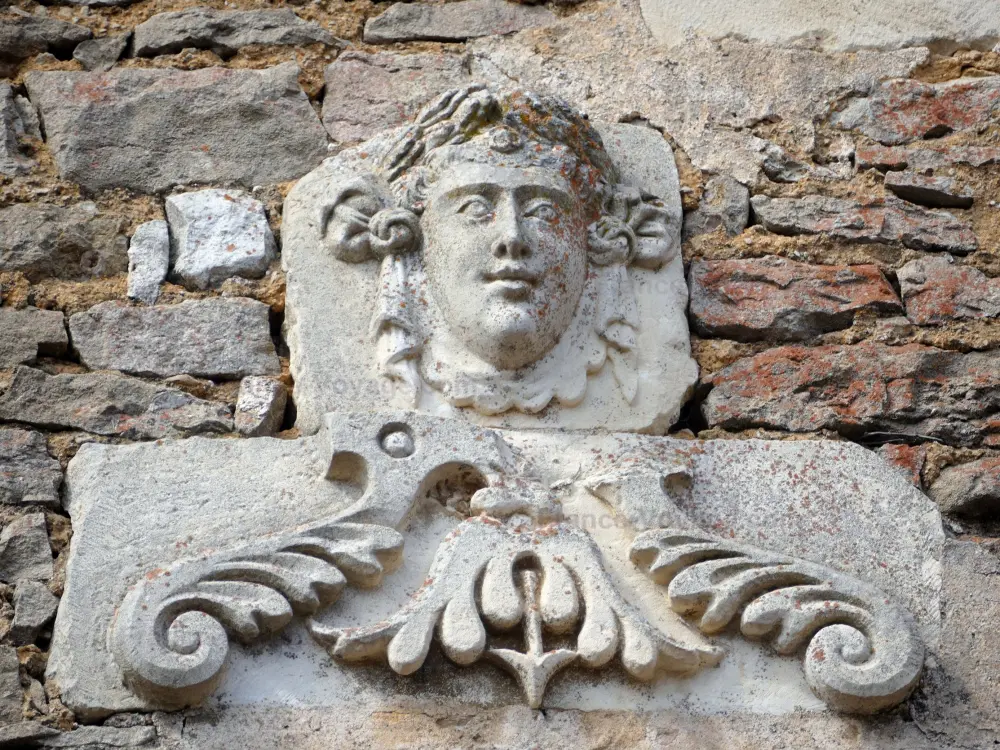
[[[230,633],[249,643],[330,604],[348,581],[377,585],[402,547],[394,529],[327,522],[151,571],[118,610],[115,658],[144,697],[196,703],[215,688]]]

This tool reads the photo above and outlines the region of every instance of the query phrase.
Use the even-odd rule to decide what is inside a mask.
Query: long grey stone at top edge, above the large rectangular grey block
[[[323,27],[304,21],[291,8],[215,10],[188,8],[158,13],[135,27],[139,57],[170,55],[182,49],[210,49],[223,57],[250,44],[335,44]]]

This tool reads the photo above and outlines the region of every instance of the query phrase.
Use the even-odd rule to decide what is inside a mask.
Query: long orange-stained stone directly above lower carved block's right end
[[[785,346],[716,373],[710,425],[847,436],[929,436],[955,445],[1000,437],[1000,355],[910,344]]]

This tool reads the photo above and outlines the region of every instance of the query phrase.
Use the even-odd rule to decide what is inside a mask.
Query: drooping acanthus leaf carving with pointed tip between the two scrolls
[[[518,625],[524,653],[488,647],[487,626]],[[599,668],[617,655],[629,674],[649,681],[658,669],[691,673],[722,657],[718,649],[682,644],[650,625],[618,593],[586,532],[568,523],[532,527],[516,516],[508,523],[483,515],[460,524],[438,549],[423,588],[385,620],[350,629],[311,621],[309,628],[335,657],[384,658],[403,675],[423,665],[436,636],[456,664],[485,657],[511,671],[534,708],[548,679],[571,663]],[[545,652],[543,632],[575,635],[575,642]]]

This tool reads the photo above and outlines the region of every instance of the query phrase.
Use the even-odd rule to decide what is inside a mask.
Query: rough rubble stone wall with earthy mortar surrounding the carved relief
[[[678,22],[661,10],[652,0],[641,10],[634,0],[16,0],[2,12],[0,747],[179,741],[183,727],[161,714],[74,730],[45,681],[72,535],[66,466],[85,442],[298,437],[282,201],[329,153],[474,80],[648,124],[674,148],[701,374],[672,434],[858,442],[940,506],[954,637],[914,697],[891,720],[859,720],[853,737],[782,719],[787,744],[766,746],[897,747],[895,720],[939,743],[929,747],[992,746],[997,31],[978,16],[972,31],[931,23],[928,8],[926,28],[858,32],[856,44],[699,18],[675,38],[664,25]],[[827,23],[848,36],[864,28]],[[714,744],[698,744],[690,720],[521,713],[358,731],[379,747],[544,736],[556,743],[545,746],[764,747],[773,734],[720,722]],[[539,734],[511,730],[532,721]]]

